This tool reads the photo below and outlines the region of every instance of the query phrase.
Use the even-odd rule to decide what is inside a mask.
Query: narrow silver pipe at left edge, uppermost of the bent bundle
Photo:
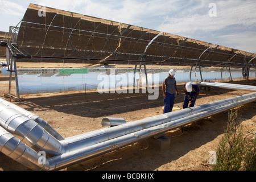
[[[26,115],[26,117],[33,119],[35,122],[37,122],[40,126],[44,128],[44,130],[48,131],[49,134],[51,134],[53,137],[55,137],[58,140],[63,140],[64,137],[62,137],[51,125],[49,125],[44,119],[40,118],[38,115],[31,113],[30,111],[27,111],[26,109],[23,109],[22,107],[19,107],[11,102],[8,102],[2,98],[0,98],[0,103],[15,109],[16,111],[19,111],[20,114]]]

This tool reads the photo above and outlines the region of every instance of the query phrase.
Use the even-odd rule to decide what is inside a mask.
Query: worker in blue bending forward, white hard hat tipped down
[[[196,82],[187,82],[184,84],[184,102],[183,102],[183,109],[188,107],[189,101],[191,101],[191,104],[189,107],[195,106],[196,98],[199,95],[199,86],[196,84]]]

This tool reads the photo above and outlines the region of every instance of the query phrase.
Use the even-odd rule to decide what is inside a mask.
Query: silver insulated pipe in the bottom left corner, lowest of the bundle
[[[32,148],[28,147],[1,126],[0,152],[32,170],[49,169],[48,159],[44,158],[45,160],[41,160],[41,155],[38,155],[35,150],[32,150]]]

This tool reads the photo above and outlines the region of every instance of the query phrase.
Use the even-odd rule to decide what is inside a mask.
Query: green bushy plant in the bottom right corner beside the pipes
[[[229,111],[224,136],[218,143],[214,171],[255,171],[256,138],[246,143],[242,135],[241,105]]]

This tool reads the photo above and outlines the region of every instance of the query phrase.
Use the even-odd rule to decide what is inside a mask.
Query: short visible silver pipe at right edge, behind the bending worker
[[[247,90],[247,91],[256,91],[256,86],[252,85],[240,85],[240,84],[227,84],[222,82],[200,82],[200,86],[216,86],[219,88],[225,89],[234,89],[234,90]]]

